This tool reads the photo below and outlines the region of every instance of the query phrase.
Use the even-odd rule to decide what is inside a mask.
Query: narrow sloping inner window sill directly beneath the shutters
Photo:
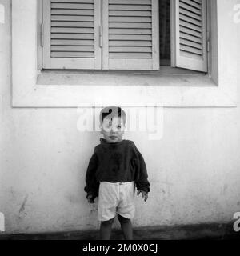
[[[150,72],[52,71],[37,77],[38,86],[216,86],[208,75]]]

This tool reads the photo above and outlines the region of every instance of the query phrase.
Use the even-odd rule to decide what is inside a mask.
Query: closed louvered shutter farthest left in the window
[[[101,69],[99,0],[43,0],[43,68]]]

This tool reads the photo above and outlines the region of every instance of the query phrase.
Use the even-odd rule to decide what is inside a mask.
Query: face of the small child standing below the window
[[[102,121],[101,133],[108,143],[121,142],[124,129],[125,126],[122,118],[106,117]]]

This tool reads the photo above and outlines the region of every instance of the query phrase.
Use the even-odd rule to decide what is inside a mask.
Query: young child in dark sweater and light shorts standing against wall
[[[110,239],[111,226],[118,213],[122,234],[130,240],[133,239],[130,219],[135,212],[135,186],[145,201],[150,191],[146,164],[134,142],[122,139],[126,114],[120,107],[104,108],[100,122],[104,138],[95,146],[86,171],[86,198],[94,203],[98,197],[100,239]]]

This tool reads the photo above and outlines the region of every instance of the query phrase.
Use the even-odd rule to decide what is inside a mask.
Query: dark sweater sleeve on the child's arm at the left
[[[95,173],[98,168],[98,156],[95,153],[90,158],[89,165],[86,170],[86,186],[84,191],[91,194],[94,198],[98,197],[99,182],[96,179]]]

